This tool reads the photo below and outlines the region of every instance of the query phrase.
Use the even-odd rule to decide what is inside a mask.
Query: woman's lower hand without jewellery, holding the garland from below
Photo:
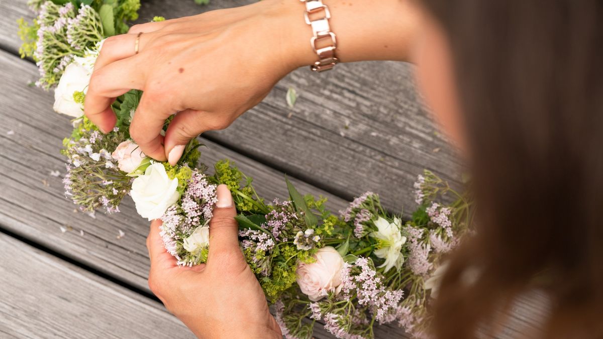
[[[149,287],[197,337],[282,338],[264,292],[239,248],[230,191],[219,185],[217,195],[209,223],[207,264],[178,267],[163,247],[160,221],[151,223]]]

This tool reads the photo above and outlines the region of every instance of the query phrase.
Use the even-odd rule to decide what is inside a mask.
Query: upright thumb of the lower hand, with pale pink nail
[[[209,258],[220,255],[241,253],[239,250],[239,224],[235,220],[236,209],[232,195],[226,185],[219,185],[216,189],[218,202],[213,209],[213,217],[209,222]]]

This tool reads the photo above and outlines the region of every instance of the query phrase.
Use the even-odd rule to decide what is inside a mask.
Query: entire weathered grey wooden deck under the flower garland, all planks
[[[90,218],[74,210],[61,178],[50,175],[65,174],[58,151],[71,124],[52,111],[51,93],[27,86],[37,68],[19,59],[16,35],[16,20],[32,16],[26,2],[0,0],[0,337],[192,337],[148,289],[148,223],[133,203],[121,214]],[[248,1],[142,2],[140,22]],[[300,94],[291,116],[290,86]],[[339,65],[320,75],[299,69],[231,127],[201,139],[204,162],[235,160],[260,195],[284,197],[287,173],[300,191],[329,197],[335,210],[371,190],[388,209],[411,211],[412,182],[423,168],[459,178],[459,162],[403,63]],[[525,333],[543,305],[540,294],[518,300],[500,336]],[[321,326],[315,335],[330,337]],[[376,336],[405,337],[396,326],[380,326]]]

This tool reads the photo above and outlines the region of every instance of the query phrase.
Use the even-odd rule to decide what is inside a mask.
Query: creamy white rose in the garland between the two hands
[[[162,163],[147,167],[145,174],[134,179],[130,195],[136,212],[149,221],[160,218],[180,198],[178,179],[169,179]]]

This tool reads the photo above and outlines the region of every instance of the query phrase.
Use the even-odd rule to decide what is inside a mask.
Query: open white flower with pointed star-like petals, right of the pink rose
[[[385,272],[390,268],[400,268],[404,262],[402,256],[402,245],[406,242],[406,236],[400,233],[402,220],[394,218],[394,222],[390,223],[382,217],[379,217],[374,223],[377,226],[376,232],[371,232],[370,236],[379,239],[379,248],[374,251],[377,258],[385,258],[385,262],[379,267],[385,267]]]

